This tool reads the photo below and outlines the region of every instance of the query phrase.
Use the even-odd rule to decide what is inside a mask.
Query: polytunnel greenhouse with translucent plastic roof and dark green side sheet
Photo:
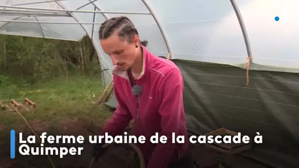
[[[190,135],[219,128],[263,143],[239,155],[299,167],[298,0],[1,0],[0,33],[80,41],[89,36],[104,82],[113,65],[98,30],[127,16],[148,50],[184,78]],[[115,108],[114,96],[106,102]]]

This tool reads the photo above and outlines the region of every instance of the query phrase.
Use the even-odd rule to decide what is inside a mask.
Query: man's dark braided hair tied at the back
[[[99,29],[99,38],[107,39],[113,33],[117,32],[118,36],[122,40],[127,40],[128,43],[132,43],[133,36],[139,35],[137,29],[131,20],[125,16],[114,17],[106,20]],[[140,41],[140,44],[147,47],[147,40]]]

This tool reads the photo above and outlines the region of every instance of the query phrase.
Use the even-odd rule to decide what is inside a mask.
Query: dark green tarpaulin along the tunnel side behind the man
[[[281,168],[299,168],[299,74],[249,71],[230,65],[173,60],[184,78],[190,134],[226,128],[263,143],[241,155]],[[117,107],[114,96],[106,103]]]

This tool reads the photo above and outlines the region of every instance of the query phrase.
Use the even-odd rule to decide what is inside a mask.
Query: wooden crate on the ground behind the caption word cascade
[[[251,139],[249,140],[249,143],[244,143],[244,142],[242,142],[243,135],[241,135],[240,136],[241,143],[234,143],[233,137],[238,136],[238,133],[231,131],[231,130],[227,130],[225,128],[221,128],[216,131],[210,132],[210,133],[206,134],[205,136],[207,138],[208,138],[208,136],[213,136],[213,137],[221,136],[223,138],[226,135],[232,136],[232,138],[231,138],[232,143],[225,143],[225,142],[223,142],[223,139],[221,139],[222,143],[216,143],[214,141],[213,143],[205,143],[205,145],[214,150],[217,150],[222,153],[227,153],[229,155],[235,155],[239,152],[243,152],[243,151],[251,149],[251,144],[252,144]]]

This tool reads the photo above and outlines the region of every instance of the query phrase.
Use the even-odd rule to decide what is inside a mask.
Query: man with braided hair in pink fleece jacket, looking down
[[[152,55],[147,41],[124,16],[106,20],[99,29],[100,44],[110,56],[117,110],[99,135],[121,135],[134,118],[132,135],[144,136],[137,143],[147,168],[193,168],[183,107],[183,79],[179,68],[168,59]],[[151,143],[150,137],[167,137],[166,143]],[[173,143],[172,134],[184,136]],[[102,153],[95,144],[93,156]]]

